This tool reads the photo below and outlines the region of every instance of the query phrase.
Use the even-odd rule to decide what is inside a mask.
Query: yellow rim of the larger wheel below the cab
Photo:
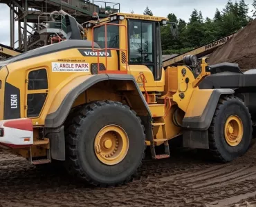
[[[125,158],[129,149],[129,139],[123,128],[109,125],[98,132],[94,146],[98,159],[111,166],[120,163]]]

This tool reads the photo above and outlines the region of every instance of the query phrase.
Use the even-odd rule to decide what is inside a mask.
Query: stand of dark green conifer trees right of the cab
[[[254,17],[256,17],[256,0],[253,1],[253,7]],[[216,10],[213,19],[208,17],[203,19],[202,13],[196,9],[192,10],[188,23],[173,13],[168,14],[168,19],[177,23],[179,39],[172,37],[170,27],[161,27],[164,54],[188,52],[193,48],[226,37],[251,21],[245,0],[235,2],[228,0],[223,10]]]

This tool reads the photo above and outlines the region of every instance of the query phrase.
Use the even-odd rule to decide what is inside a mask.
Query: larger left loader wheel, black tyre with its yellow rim
[[[119,102],[97,101],[72,119],[65,134],[68,172],[95,186],[129,181],[145,155],[144,127],[136,113]]]

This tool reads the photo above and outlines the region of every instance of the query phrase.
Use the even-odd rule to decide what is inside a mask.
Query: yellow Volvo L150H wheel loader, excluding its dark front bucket
[[[205,59],[199,66],[187,57],[187,65],[163,69],[166,21],[111,14],[85,24],[86,41],[3,61],[1,146],[32,164],[63,161],[97,186],[129,181],[146,146],[153,159],[170,157],[168,141],[180,135],[183,146],[209,149],[219,161],[243,155],[252,134],[248,108],[235,88],[199,87],[210,77]]]

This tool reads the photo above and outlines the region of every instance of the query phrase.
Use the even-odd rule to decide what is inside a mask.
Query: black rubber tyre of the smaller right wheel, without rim
[[[230,146],[224,135],[226,120],[231,115],[239,117],[244,127],[241,142],[237,146]],[[252,133],[250,112],[244,102],[237,97],[220,99],[209,128],[209,146],[214,159],[225,163],[244,155],[250,146]]]

